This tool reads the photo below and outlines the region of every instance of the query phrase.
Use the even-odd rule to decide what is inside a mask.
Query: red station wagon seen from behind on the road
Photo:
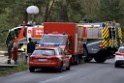
[[[60,72],[70,70],[70,56],[58,46],[37,47],[30,56],[29,71],[34,72],[36,68],[54,68]]]

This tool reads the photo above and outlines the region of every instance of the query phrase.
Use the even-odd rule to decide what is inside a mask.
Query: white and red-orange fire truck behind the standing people
[[[6,39],[6,45],[9,41],[18,41],[18,44],[24,44],[28,42],[28,38],[32,38],[34,42],[39,43],[41,35],[44,33],[42,25],[22,25],[8,30],[8,36]]]

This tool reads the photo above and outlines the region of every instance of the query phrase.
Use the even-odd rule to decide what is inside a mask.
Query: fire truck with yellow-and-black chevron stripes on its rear
[[[93,58],[98,63],[114,57],[115,51],[122,45],[122,31],[119,23],[112,21],[101,23],[77,24],[83,28],[83,51],[85,62]]]

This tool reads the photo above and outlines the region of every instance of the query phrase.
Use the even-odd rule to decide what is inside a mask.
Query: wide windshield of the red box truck
[[[41,39],[42,44],[59,44],[65,45],[66,36],[43,36]]]

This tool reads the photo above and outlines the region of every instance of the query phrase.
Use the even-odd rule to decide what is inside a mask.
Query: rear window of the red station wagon
[[[36,50],[34,50],[33,55],[53,56],[53,55],[55,55],[55,51],[52,49],[36,49]]]

